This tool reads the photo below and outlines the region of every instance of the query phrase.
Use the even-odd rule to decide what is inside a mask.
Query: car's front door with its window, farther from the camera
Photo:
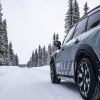
[[[59,61],[60,62],[60,75],[66,75],[66,70],[68,70],[68,67],[66,67],[66,65],[69,64],[68,59],[70,56],[70,49],[71,49],[71,45],[69,45],[69,42],[72,39],[75,26],[70,30],[68,35],[65,37],[61,50],[59,51],[59,54],[58,54],[60,58],[60,61]]]

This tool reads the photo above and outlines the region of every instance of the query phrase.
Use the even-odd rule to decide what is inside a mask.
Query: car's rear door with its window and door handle
[[[62,75],[74,76],[74,59],[80,45],[80,35],[86,31],[87,17],[78,22],[67,36],[60,55],[62,63]]]

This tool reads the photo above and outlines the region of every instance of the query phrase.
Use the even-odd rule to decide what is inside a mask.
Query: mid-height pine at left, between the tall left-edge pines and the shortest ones
[[[12,49],[12,43],[9,43],[9,65],[12,66],[12,65],[15,65],[15,58],[14,58],[14,52],[13,52],[13,49]]]

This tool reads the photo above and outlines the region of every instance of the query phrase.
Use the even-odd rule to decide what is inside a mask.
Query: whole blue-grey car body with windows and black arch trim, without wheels
[[[79,19],[72,29],[65,37],[61,49],[51,56],[56,74],[61,79],[72,78],[77,83],[78,63],[82,58],[88,58],[96,78],[96,87],[100,90],[100,6]]]

